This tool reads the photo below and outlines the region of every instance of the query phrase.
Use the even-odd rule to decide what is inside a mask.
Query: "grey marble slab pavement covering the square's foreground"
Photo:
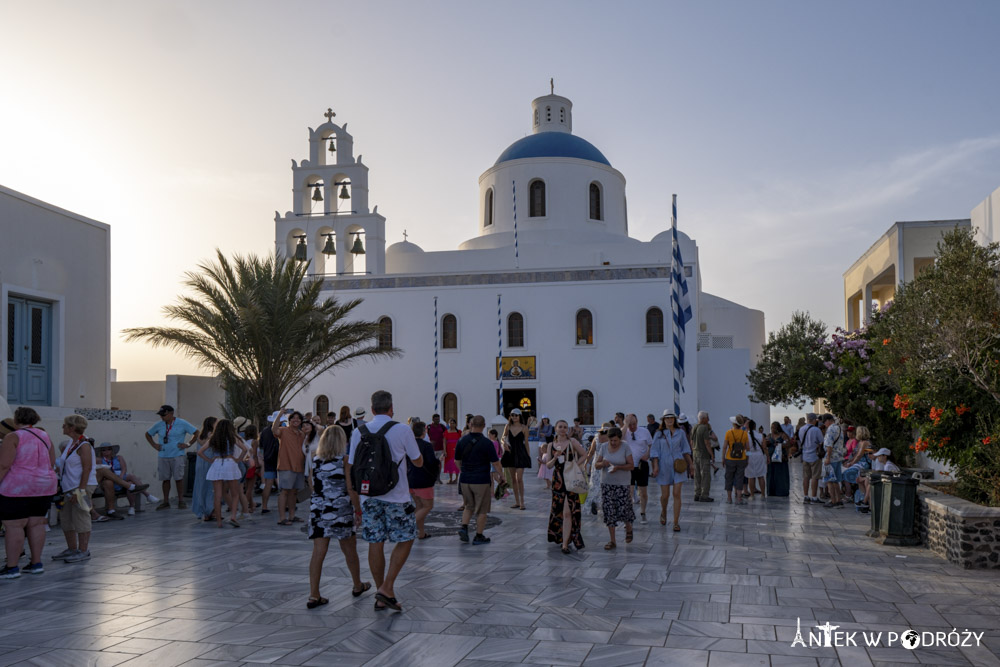
[[[178,510],[97,524],[89,563],[46,557],[45,574],[0,581],[0,665],[1000,665],[1000,572],[878,546],[853,509],[803,506],[798,494],[735,507],[718,502],[721,489],[692,503],[688,484],[682,532],[650,509],[636,541],[619,533],[607,552],[587,516],[587,548],[564,556],[546,543],[543,483],[526,483],[529,509],[495,509],[492,544],[414,545],[396,587],[402,613],[352,598],[335,546],[330,604],[307,610],[310,543],[274,513],[240,529]],[[457,508],[455,487],[437,493],[439,508]],[[49,534],[48,555],[63,546]],[[361,543],[363,568],[365,553]],[[979,647],[792,647],[798,619],[806,633],[831,623],[985,636]]]

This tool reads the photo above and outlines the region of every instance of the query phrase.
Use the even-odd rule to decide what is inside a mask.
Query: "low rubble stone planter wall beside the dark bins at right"
[[[965,569],[1000,568],[1000,508],[921,484],[916,524],[921,542],[949,563]]]

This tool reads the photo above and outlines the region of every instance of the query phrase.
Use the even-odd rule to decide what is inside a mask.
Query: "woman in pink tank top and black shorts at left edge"
[[[42,547],[45,546],[45,515],[58,488],[53,467],[55,448],[45,431],[35,428],[41,421],[31,408],[14,411],[14,432],[0,443],[0,519],[3,520],[7,547],[7,564],[0,570],[0,579],[21,576],[17,561],[27,535],[31,564],[30,574],[41,574]]]

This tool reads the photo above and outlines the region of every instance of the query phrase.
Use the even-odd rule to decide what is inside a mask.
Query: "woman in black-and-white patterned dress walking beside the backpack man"
[[[347,569],[354,580],[352,594],[359,597],[372,587],[361,581],[361,563],[355,528],[361,519],[361,500],[344,476],[347,462],[347,437],[344,429],[329,426],[319,439],[312,467],[312,500],[309,503],[309,538],[313,541],[309,561],[309,601],[306,607],[315,609],[329,600],[319,594],[319,579],[323,561],[330,548],[330,538],[340,542]]]

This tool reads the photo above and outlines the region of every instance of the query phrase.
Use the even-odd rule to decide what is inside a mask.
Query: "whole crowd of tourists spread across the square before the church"
[[[255,514],[269,514],[270,496],[276,492],[277,524],[303,524],[313,545],[310,609],[328,602],[320,594],[320,579],[331,539],[337,540],[351,573],[353,595],[372,588],[361,578],[359,534],[368,543],[375,609],[402,609],[394,584],[413,542],[432,537],[425,522],[437,485],[458,485],[458,539],[489,544],[486,526],[494,500],[512,497],[511,509],[527,509],[524,473],[533,462],[532,429],[539,443],[538,477],[551,493],[547,539],[564,554],[585,548],[582,524],[587,514],[597,515],[608,530],[603,549],[617,548],[619,528],[625,543],[631,543],[635,524],[648,523],[651,482],[659,487],[660,526],[670,524],[679,532],[683,484],[693,480],[695,502],[715,502],[712,486],[720,469],[725,502],[743,506],[758,497],[788,497],[789,466],[800,458],[806,504],[839,508],[844,498],[853,497],[859,511],[868,509],[865,471],[898,471],[888,449],[874,449],[867,428],[841,424],[829,414],[810,413],[797,426],[785,417],[767,430],[735,415],[725,431],[718,430],[720,437],[707,412],[699,412],[692,424],[683,413],[665,410],[659,419],[647,415],[641,426],[637,415],[618,412],[585,438],[579,419],[571,425],[542,415],[536,421],[520,409],[511,410],[498,430],[487,429],[481,415],[471,414],[462,429],[457,420],[442,423],[437,414],[428,423],[415,417],[397,421],[386,391],[375,392],[370,407],[367,421],[365,408],[353,415],[347,406],[326,415],[282,408],[258,430],[243,418],[215,417],[196,428],[164,405],[160,421],[146,434],[157,452],[162,500],[149,496],[147,485],[128,472],[117,446],[103,443],[94,449],[82,416],[66,417],[66,440],[57,451],[37,427],[38,414],[18,408],[13,420],[4,421],[8,432],[0,446],[0,518],[7,555],[0,578],[20,576],[25,542],[30,557],[23,571],[43,571],[46,516],[53,503],[67,546],[52,559],[66,563],[90,558],[92,521],[109,520],[118,495],[129,499],[129,514],[138,494],[158,503],[157,510],[171,509],[172,490],[177,509],[188,509],[184,483],[189,449],[197,457],[190,509],[198,521],[239,528]],[[104,514],[93,507],[98,488],[105,497]],[[306,500],[308,519],[297,515],[297,506]],[[386,542],[394,544],[388,562]]]

